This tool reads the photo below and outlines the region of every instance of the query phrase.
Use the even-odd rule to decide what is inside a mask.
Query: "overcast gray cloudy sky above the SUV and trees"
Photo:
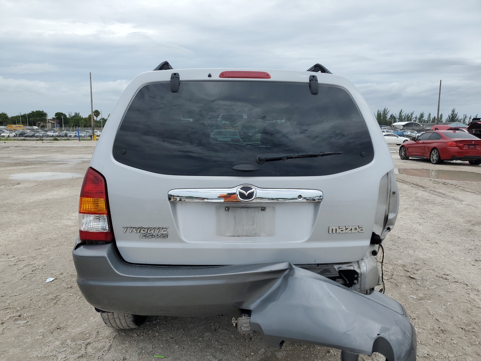
[[[113,109],[174,68],[306,70],[351,80],[372,111],[481,115],[481,2],[0,0],[0,112]]]

